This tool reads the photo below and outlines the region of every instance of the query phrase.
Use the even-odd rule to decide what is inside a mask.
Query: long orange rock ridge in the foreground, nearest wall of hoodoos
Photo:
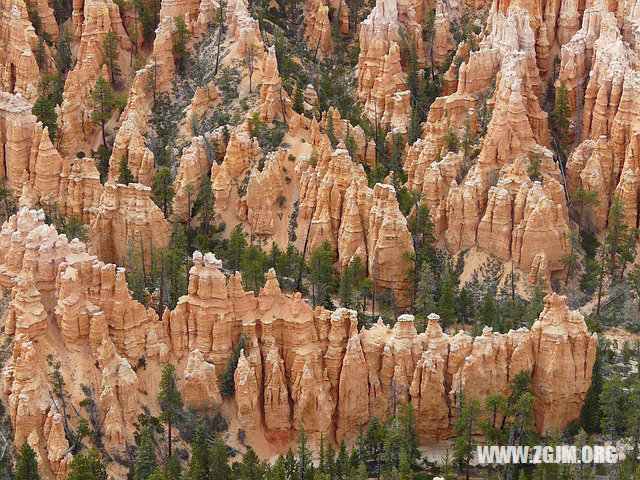
[[[29,442],[55,478],[71,454],[47,355],[62,364],[67,401],[94,392],[114,455],[132,443],[136,415],[155,390],[150,373],[167,361],[178,365],[188,405],[219,406],[218,380],[241,336],[235,407],[250,440],[287,439],[302,421],[314,438],[352,437],[371,416],[391,412],[391,392],[415,405],[423,439],[445,438],[460,392],[506,392],[521,370],[541,387],[536,428],[551,432],[579,415],[590,385],[596,335],[556,294],[531,331],[450,336],[437,315],[423,334],[410,315],[393,328],[358,330],[353,311],[314,310],[299,293],[284,295],[273,271],[256,297],[239,274],[227,278],[213,254],[196,252],[188,294],[159,318],[131,298],[123,269],[43,220],[25,208],[0,232],[0,283],[11,289],[5,332],[14,340],[1,388],[16,445]],[[136,368],[139,358],[145,370]]]

